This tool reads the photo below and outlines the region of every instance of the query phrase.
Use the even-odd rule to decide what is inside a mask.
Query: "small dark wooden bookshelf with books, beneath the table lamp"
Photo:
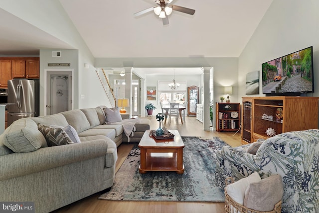
[[[240,127],[239,103],[216,103],[216,131],[238,131]]]

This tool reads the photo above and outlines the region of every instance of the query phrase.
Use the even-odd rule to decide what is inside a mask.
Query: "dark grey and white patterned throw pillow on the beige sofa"
[[[38,130],[44,135],[46,143],[49,147],[74,144],[74,142],[62,128],[38,124]]]

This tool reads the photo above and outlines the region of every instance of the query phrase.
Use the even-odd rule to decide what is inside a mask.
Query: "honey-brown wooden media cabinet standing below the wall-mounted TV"
[[[241,143],[269,138],[268,128],[273,128],[276,135],[318,129],[318,100],[319,97],[243,97]]]

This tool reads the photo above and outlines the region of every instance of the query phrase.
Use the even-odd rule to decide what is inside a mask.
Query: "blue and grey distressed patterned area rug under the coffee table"
[[[115,175],[111,190],[99,197],[113,201],[224,202],[224,191],[215,186],[215,153],[228,146],[218,137],[182,137],[184,174],[175,172],[139,173],[137,145]]]

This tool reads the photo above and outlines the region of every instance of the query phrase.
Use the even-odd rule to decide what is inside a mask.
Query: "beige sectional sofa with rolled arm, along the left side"
[[[35,202],[47,213],[112,187],[117,146],[127,141],[121,124],[105,124],[100,107],[22,118],[0,135],[0,201]],[[81,143],[47,146],[38,124],[74,127]],[[150,121],[135,124],[139,132]],[[130,141],[139,141],[141,134]]]

